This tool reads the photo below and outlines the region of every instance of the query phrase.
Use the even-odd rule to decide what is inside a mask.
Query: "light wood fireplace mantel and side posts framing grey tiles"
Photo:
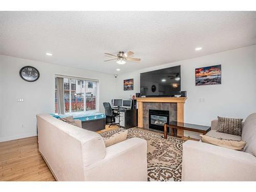
[[[186,97],[139,97],[138,105],[138,126],[143,127],[143,102],[177,103],[177,121],[184,122],[184,103]],[[178,130],[178,136],[183,137],[183,130]]]

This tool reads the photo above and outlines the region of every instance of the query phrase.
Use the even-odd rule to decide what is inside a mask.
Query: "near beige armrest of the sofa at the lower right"
[[[183,143],[182,181],[256,181],[256,157],[208,143]]]

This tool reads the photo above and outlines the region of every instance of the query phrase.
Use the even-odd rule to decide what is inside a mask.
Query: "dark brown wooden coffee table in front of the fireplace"
[[[163,132],[164,139],[167,139],[168,128],[170,129],[171,136],[175,136],[174,129],[197,132],[203,135],[205,135],[208,131],[210,131],[210,126],[171,121],[169,124],[164,124],[164,132]]]

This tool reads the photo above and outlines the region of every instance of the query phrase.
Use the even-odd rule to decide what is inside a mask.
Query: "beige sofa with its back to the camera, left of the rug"
[[[147,181],[147,144],[103,138],[48,114],[36,115],[39,152],[58,181]],[[79,126],[80,122],[76,121]]]

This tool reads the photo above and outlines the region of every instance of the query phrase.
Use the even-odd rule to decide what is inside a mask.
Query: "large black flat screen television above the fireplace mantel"
[[[180,66],[140,74],[141,96],[173,96],[180,94]]]

